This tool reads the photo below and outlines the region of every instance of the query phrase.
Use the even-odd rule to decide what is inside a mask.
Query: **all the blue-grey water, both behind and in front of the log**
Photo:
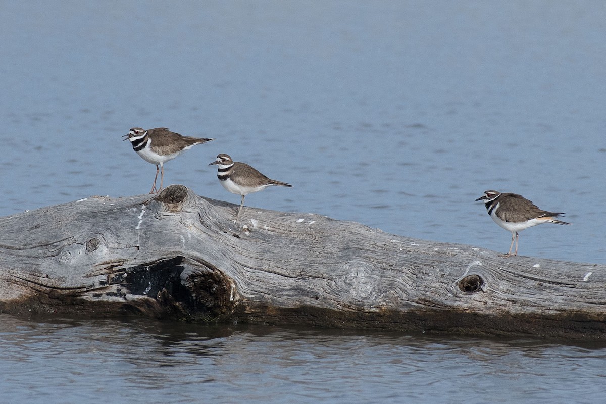
[[[0,215],[147,193],[155,167],[121,136],[163,126],[216,138],[168,162],[165,185],[238,203],[207,165],[228,153],[294,185],[249,206],[499,252],[510,234],[474,199],[511,191],[573,223],[524,231],[519,253],[604,263],[605,17],[602,1],[0,1]],[[594,402],[606,389],[596,347],[0,320],[7,402]]]

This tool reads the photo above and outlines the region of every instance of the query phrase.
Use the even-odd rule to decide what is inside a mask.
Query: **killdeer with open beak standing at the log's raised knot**
[[[159,192],[162,189],[165,162],[174,159],[190,147],[214,140],[181,136],[178,133],[171,132],[168,128],[154,128],[149,130],[132,128],[128,131],[128,134],[125,134],[122,137],[124,137],[124,140],[128,139],[130,141],[133,149],[135,149],[142,159],[156,165],[156,177],[153,179],[150,194]],[[158,165],[160,167],[158,167]],[[160,188],[156,190],[156,180],[158,179],[158,172],[161,169]]]

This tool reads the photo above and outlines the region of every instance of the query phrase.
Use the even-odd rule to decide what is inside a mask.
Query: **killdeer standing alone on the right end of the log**
[[[518,231],[542,223],[556,223],[559,225],[570,224],[556,219],[556,217],[564,214],[564,212],[548,212],[539,209],[530,202],[530,200],[518,194],[509,192],[503,194],[499,191],[486,191],[484,195],[476,199],[476,201],[478,200],[484,201],[488,214],[490,214],[490,217],[493,218],[496,224],[505,230],[511,231],[509,252],[503,254],[501,257],[508,257],[511,255],[511,248],[513,248],[514,241],[516,242],[516,250],[513,252],[513,255],[518,255]]]

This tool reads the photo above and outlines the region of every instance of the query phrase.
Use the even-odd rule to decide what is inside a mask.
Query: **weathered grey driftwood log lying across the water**
[[[171,185],[2,217],[0,310],[606,339],[605,265],[236,208]]]

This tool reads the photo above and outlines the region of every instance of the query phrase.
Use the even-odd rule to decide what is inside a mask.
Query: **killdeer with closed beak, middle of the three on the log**
[[[221,181],[223,188],[230,191],[232,194],[242,195],[242,202],[240,202],[240,208],[236,215],[238,222],[242,206],[244,206],[244,197],[253,192],[262,191],[270,185],[279,185],[280,187],[291,187],[292,185],[286,184],[285,182],[276,181],[269,179],[263,174],[259,173],[256,168],[250,167],[246,163],[233,161],[230,156],[225,153],[221,153],[217,156],[217,159],[208,165],[217,164],[219,166],[217,171],[217,177]]]

